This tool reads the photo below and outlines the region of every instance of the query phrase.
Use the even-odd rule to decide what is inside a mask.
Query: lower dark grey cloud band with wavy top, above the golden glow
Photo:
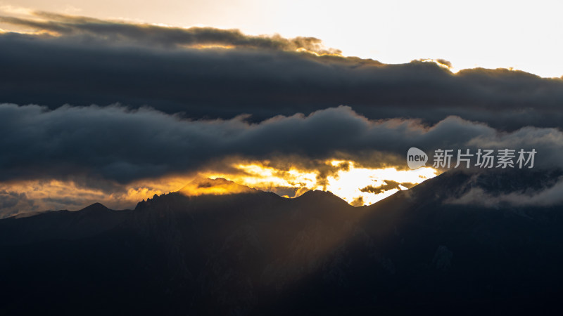
[[[348,155],[362,164],[405,167],[406,150],[526,148],[538,166],[562,166],[563,133],[525,128],[498,133],[481,123],[448,117],[434,126],[417,120],[370,121],[350,107],[250,124],[243,117],[190,121],[156,110],[125,107],[0,105],[0,180],[84,176],[119,183],[196,171],[232,156],[300,160]],[[362,152],[380,160],[362,162]],[[375,155],[377,156],[377,155]],[[372,156],[372,157],[375,157]],[[301,164],[305,164],[301,162]],[[343,166],[339,166],[343,168]]]

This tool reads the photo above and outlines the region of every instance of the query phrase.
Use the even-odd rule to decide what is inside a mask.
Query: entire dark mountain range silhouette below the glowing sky
[[[0,314],[549,314],[561,205],[500,197],[560,176],[448,172],[361,207],[323,191],[186,194],[236,186],[197,180],[133,210],[6,218]]]

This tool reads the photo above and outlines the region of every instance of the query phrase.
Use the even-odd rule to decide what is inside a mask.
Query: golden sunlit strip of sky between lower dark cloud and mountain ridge
[[[122,187],[109,187],[106,189],[109,192],[61,180],[0,183],[0,192],[23,195],[25,199],[22,201],[31,203],[13,206],[13,213],[17,213],[18,209],[77,210],[95,202],[101,202],[110,209],[131,209],[137,202],[168,192],[179,191],[191,196],[225,195],[255,192],[253,189],[274,192],[288,198],[298,197],[308,190],[326,190],[354,206],[361,206],[378,202],[399,190],[407,190],[438,174],[438,171],[429,167],[414,171],[370,169],[356,166],[351,161],[334,159],[320,162],[318,169],[323,169],[324,172],[300,169],[297,166],[279,169],[269,161],[238,161],[232,164],[230,172],[209,169],[197,174],[141,179]]]

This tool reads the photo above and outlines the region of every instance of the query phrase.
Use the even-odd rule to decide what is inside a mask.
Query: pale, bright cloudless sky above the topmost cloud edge
[[[384,63],[449,60],[455,70],[512,67],[561,77],[563,3],[538,1],[0,1],[25,9],[245,34],[316,37]]]

